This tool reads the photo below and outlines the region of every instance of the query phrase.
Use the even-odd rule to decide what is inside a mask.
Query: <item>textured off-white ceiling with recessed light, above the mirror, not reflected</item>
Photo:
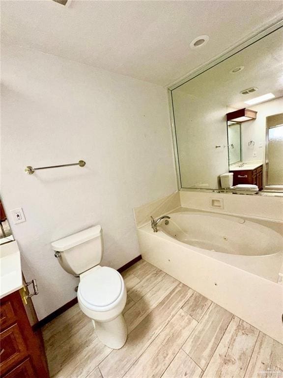
[[[256,6],[255,6],[256,4]],[[2,41],[163,86],[279,17],[282,1],[2,0]],[[190,49],[201,34],[206,46]]]

